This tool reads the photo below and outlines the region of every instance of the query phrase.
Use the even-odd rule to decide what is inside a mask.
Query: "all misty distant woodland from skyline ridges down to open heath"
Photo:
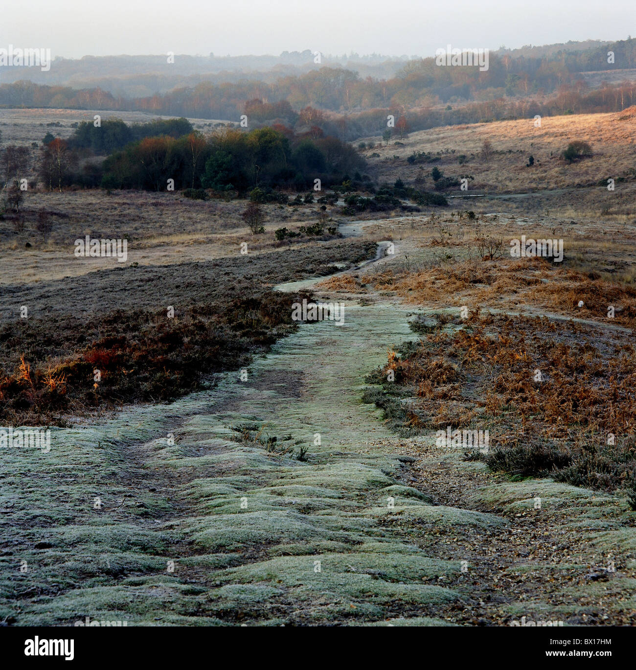
[[[613,52],[613,63],[608,62],[611,60],[608,52]],[[347,67],[314,64],[311,52],[283,56],[273,65],[269,62],[267,72],[257,72],[253,77],[241,70],[231,73],[223,70],[209,77],[186,74],[188,68],[195,68],[197,64],[203,67],[204,57],[175,57],[174,65],[159,65],[160,57],[144,57],[146,60],[141,62],[138,59],[142,57],[87,57],[68,62],[74,64],[72,68],[66,61],[56,61],[52,71],[70,68],[72,72],[68,74],[76,80],[94,79],[97,74],[106,79],[102,86],[95,88],[52,86],[25,80],[2,84],[0,107],[145,111],[234,122],[246,114],[250,117],[250,128],[254,128],[253,124],[279,123],[298,131],[315,125],[324,134],[351,140],[380,133],[388,114],[403,116],[408,129],[418,130],[534,114],[621,111],[636,102],[634,82],[627,80],[627,76],[624,81],[616,78],[617,70],[636,68],[635,39],[611,44],[590,42],[501,49],[490,54],[489,69],[485,72],[475,67],[437,66],[434,58],[403,62],[382,61],[379,56],[367,60],[355,56],[356,65],[360,61],[364,68],[375,68],[376,72],[394,72],[388,77],[362,76],[359,70],[364,68],[349,69],[349,62]],[[153,62],[148,62],[151,58]],[[183,63],[178,65],[179,58],[189,59],[187,68]],[[250,58],[272,57],[243,58],[250,63]],[[125,59],[130,61],[129,66]],[[224,59],[210,56],[207,60],[210,64],[216,63],[217,69],[224,66],[217,62]],[[124,68],[118,76],[108,74],[113,62]],[[240,67],[240,64],[237,59],[234,66]],[[173,82],[181,82],[181,86],[136,96],[136,88],[146,90],[165,79],[164,74],[160,76],[157,71],[122,74],[127,72],[127,67],[137,70],[141,66],[171,73],[167,76],[174,74]],[[176,69],[171,71],[171,67]],[[285,71],[285,68],[303,71],[280,76],[280,69]],[[11,76],[17,76],[19,69],[13,68]],[[31,69],[37,78],[39,70]],[[178,74],[184,69],[185,72]],[[607,72],[608,82],[592,88],[586,82],[586,72]],[[183,86],[190,76],[198,82]],[[106,81],[109,77],[114,77],[110,83]],[[224,78],[226,80],[222,80]],[[127,94],[114,94],[109,88]]]

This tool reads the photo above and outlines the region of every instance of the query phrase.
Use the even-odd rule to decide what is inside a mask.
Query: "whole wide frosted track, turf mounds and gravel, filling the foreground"
[[[360,397],[387,349],[414,339],[413,310],[321,297],[343,301],[343,324],[301,325],[244,372],[170,405],[56,429],[49,454],[9,454],[0,619],[630,620],[636,534],[624,501],[509,482],[433,438],[392,435]]]

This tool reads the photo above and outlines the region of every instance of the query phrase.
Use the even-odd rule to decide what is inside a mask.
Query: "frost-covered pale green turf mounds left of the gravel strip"
[[[406,311],[345,314],[337,333],[321,322],[274,344],[246,383],[220,375],[169,405],[60,429],[48,455],[8,454],[0,504],[14,502],[5,521],[15,526],[3,538],[13,553],[0,559],[0,614],[18,624],[108,616],[129,625],[280,625],[384,620],[396,607],[457,601],[454,590],[427,583],[458,567],[418,549],[421,524],[497,520],[433,507],[404,485],[408,465],[356,393],[384,343],[408,336]],[[307,352],[318,360],[321,348],[330,355],[303,377]],[[293,401],[294,389],[270,383],[281,368],[303,379]],[[265,424],[277,444],[300,441],[308,460],[236,442],[231,427],[240,423]],[[29,572],[20,574],[23,558]]]

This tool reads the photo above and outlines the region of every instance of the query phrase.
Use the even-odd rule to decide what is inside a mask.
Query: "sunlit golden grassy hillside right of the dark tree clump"
[[[381,181],[394,182],[399,177],[412,182],[421,167],[428,188],[434,184],[430,177],[434,165],[445,176],[473,176],[469,193],[571,188],[597,185],[605,178],[636,178],[636,107],[613,114],[544,117],[541,127],[535,127],[532,119],[520,119],[434,128],[411,133],[402,145],[392,139],[380,147],[380,136],[369,140],[376,147],[363,153]],[[489,160],[481,153],[485,140],[493,147]],[[575,140],[589,143],[593,155],[570,164],[562,159],[562,152]],[[408,163],[408,156],[417,151],[441,160]],[[534,165],[526,167],[530,155]]]

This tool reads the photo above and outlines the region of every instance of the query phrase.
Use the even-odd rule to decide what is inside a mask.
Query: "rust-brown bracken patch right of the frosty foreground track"
[[[480,458],[493,470],[603,490],[633,486],[636,350],[627,334],[546,317],[473,313],[457,327],[444,322],[389,352],[370,378],[384,398],[376,391],[368,400],[380,399],[388,418],[396,422],[388,407],[401,398],[411,432],[489,429]]]

